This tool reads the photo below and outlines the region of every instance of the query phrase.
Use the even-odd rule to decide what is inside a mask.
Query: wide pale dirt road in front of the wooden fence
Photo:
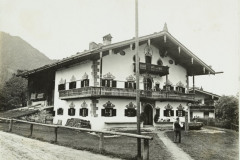
[[[0,131],[1,160],[118,160]]]

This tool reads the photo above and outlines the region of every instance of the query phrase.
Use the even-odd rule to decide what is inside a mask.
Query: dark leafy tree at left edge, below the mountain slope
[[[20,73],[21,71],[18,71]],[[8,110],[27,105],[27,80],[16,74],[0,90],[0,109]]]

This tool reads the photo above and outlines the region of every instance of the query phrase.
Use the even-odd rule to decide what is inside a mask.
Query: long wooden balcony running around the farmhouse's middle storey
[[[85,87],[59,91],[59,98],[62,100],[87,97],[135,98],[136,90],[127,88]],[[175,93],[172,91],[160,92],[141,90],[140,98],[161,101],[164,100],[194,101],[194,94]]]

